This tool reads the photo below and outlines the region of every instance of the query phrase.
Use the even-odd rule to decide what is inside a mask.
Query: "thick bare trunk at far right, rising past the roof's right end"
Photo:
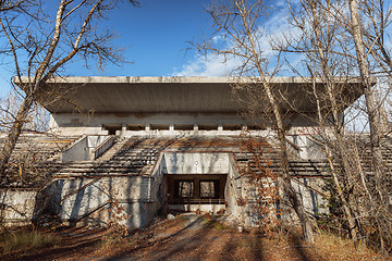
[[[372,156],[372,167],[376,175],[376,189],[381,200],[387,200],[387,196],[382,192],[382,183],[385,176],[384,162],[381,153],[381,123],[378,114],[377,102],[375,94],[371,88],[370,72],[367,67],[366,52],[364,48],[364,40],[360,33],[358,7],[356,0],[348,0],[351,22],[352,22],[352,35],[356,48],[356,59],[360,72],[360,77],[364,86],[364,95],[366,100],[367,113],[369,116],[370,125],[370,146]]]

